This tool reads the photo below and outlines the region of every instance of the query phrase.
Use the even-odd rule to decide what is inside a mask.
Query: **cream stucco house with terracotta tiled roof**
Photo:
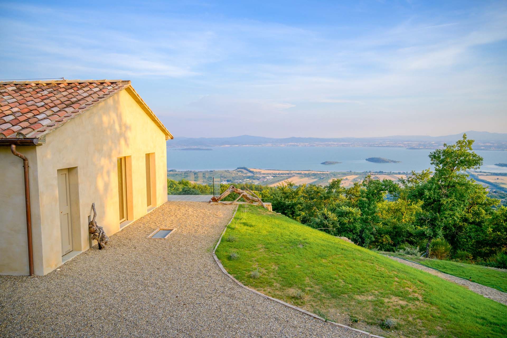
[[[92,203],[107,235],[165,203],[171,138],[130,81],[0,82],[0,274],[89,249]]]

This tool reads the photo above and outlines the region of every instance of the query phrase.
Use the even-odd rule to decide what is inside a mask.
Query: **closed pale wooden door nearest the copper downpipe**
[[[72,222],[68,169],[58,170],[58,204],[60,207],[60,230],[62,256],[72,251]]]

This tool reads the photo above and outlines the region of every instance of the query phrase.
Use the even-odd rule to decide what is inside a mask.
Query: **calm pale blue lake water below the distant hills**
[[[231,170],[237,167],[322,171],[421,171],[430,167],[429,149],[399,147],[319,147],[319,146],[230,146],[212,151],[182,151],[167,148],[167,169]],[[507,172],[507,151],[477,151],[484,158],[480,170]],[[401,163],[372,163],[365,159],[383,157]],[[322,165],[324,161],[342,162]]]

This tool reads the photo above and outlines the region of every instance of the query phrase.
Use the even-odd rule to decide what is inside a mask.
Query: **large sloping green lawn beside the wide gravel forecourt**
[[[506,306],[263,208],[240,205],[216,255],[247,286],[379,335],[507,335]]]

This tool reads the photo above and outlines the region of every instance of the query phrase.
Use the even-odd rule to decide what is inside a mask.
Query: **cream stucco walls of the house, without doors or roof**
[[[130,157],[127,161],[130,163],[127,172],[131,176],[127,177],[130,190],[128,220],[135,220],[148,211],[145,159],[147,153],[155,153],[156,205],[159,206],[167,201],[165,135],[134,101],[128,89],[104,100],[51,132],[47,135],[45,144],[30,148],[34,148],[32,152],[37,153],[32,154],[32,158],[29,157],[30,161],[36,163],[37,169],[36,177],[31,182],[37,182],[34,185],[37,185],[40,192],[37,202],[32,202],[32,213],[33,209],[37,209],[38,212],[37,226],[40,228],[38,240],[41,243],[38,252],[39,262],[35,264],[35,274],[47,274],[62,264],[57,185],[59,169],[72,168],[70,169],[70,193],[74,221],[74,251],[89,248],[88,219],[92,214],[92,203],[95,203],[97,210],[96,221],[104,228],[107,235],[120,230],[118,157]],[[4,149],[0,147],[0,150]],[[8,147],[5,150],[9,150]],[[4,158],[3,153],[0,153],[0,156]],[[12,157],[12,159],[9,158],[11,162],[19,160],[16,163],[17,173],[13,173],[13,177],[15,175],[20,177],[15,177],[16,181],[11,183],[10,191],[13,192],[12,196],[15,196],[15,199],[9,203],[22,211],[19,214],[24,217],[22,161],[13,155],[10,157]],[[1,166],[0,169],[3,169]],[[13,168],[8,164],[5,166],[9,170]],[[10,200],[5,196],[1,198]],[[0,199],[2,208],[4,208],[4,200]],[[20,222],[20,224],[24,223]],[[8,272],[8,269],[14,269],[14,267],[22,268],[19,269],[20,274],[27,272],[27,254],[23,251],[26,250],[26,230],[24,230],[25,237],[22,242],[23,235],[20,235],[22,229],[17,231],[17,228],[14,229],[13,226],[9,229],[16,238],[16,243],[19,242],[19,249],[10,255],[11,262],[5,270],[2,266],[3,261],[9,259],[0,258],[0,273]],[[0,250],[3,256],[3,245]],[[16,258],[17,256],[19,257]]]

